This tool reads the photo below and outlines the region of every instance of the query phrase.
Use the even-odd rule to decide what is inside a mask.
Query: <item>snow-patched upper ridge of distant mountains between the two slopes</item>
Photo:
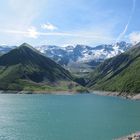
[[[36,46],[40,52],[57,61],[61,65],[69,65],[75,62],[101,62],[107,58],[120,54],[131,47],[130,43],[124,41],[112,45],[102,44],[95,47],[87,45],[76,46]]]

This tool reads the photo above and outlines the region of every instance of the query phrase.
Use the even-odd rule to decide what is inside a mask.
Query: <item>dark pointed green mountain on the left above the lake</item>
[[[72,75],[24,43],[0,57],[1,90],[81,90]]]

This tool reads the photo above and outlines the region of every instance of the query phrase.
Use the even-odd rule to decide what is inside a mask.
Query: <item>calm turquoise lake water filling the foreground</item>
[[[0,94],[0,140],[112,140],[140,131],[140,101]]]

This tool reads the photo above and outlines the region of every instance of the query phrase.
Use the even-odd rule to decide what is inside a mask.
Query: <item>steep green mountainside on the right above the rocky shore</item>
[[[99,65],[90,74],[87,87],[120,93],[140,93],[140,43]]]

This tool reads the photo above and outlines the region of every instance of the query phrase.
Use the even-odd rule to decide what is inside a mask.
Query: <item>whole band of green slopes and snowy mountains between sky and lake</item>
[[[132,47],[124,42],[120,44],[116,55],[110,52],[111,46],[107,45],[95,48],[80,45],[75,48],[42,46],[42,50],[42,47],[36,49],[24,43],[11,50],[6,49],[5,53],[3,50],[0,57],[0,88],[19,91],[99,90],[133,96],[140,93],[140,43]],[[85,57],[90,50],[90,57]],[[100,55],[95,58],[98,51]],[[110,54],[110,57],[104,53]],[[67,60],[67,63],[62,60]]]

